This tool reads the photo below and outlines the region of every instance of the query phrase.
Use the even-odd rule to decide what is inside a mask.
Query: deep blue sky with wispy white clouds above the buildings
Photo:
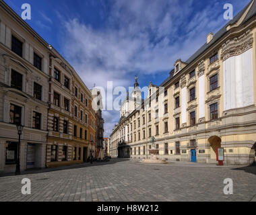
[[[228,22],[225,3],[234,15],[250,0],[5,0],[18,15],[30,3],[26,22],[74,67],[88,88],[160,85],[181,58],[187,60]],[[105,136],[119,120],[104,112]]]

